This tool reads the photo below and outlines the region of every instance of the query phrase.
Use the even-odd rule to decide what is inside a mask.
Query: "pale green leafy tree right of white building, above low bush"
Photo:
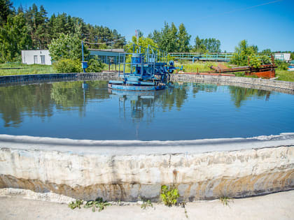
[[[59,59],[78,59],[82,60],[82,43],[78,36],[69,34],[59,34],[59,38],[52,40],[49,45],[50,56],[53,61]],[[84,56],[89,54],[86,45],[84,46]]]

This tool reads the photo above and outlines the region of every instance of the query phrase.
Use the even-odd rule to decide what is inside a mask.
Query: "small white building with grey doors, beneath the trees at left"
[[[22,64],[51,65],[49,50],[22,50]]]

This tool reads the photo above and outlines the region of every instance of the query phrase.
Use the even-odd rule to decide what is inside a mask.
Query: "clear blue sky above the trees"
[[[165,22],[177,27],[183,22],[194,39],[217,38],[221,50],[232,52],[239,41],[258,45],[259,50],[269,48],[294,51],[294,0],[270,1],[116,1],[116,0],[39,0],[13,1],[29,7],[43,5],[48,15],[67,13],[81,17],[90,24],[117,29],[130,40],[135,29],[147,36],[161,29]]]

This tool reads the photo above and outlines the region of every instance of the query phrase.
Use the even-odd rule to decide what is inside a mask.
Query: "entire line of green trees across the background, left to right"
[[[190,45],[191,35],[188,34],[183,23],[176,27],[173,22],[172,24],[165,22],[162,29],[155,29],[146,38],[139,31],[138,38],[133,37],[129,45],[151,44],[167,52],[221,52],[221,41],[216,38],[196,36],[194,45]],[[52,48],[50,50],[52,59],[55,61],[59,57],[80,59],[80,41],[82,40],[99,43],[91,45],[92,49],[123,48],[126,45],[125,38],[116,29],[86,24],[80,17],[71,17],[66,13],[52,14],[48,17],[45,8],[38,7],[35,3],[29,8],[23,8],[20,5],[15,9],[10,0],[0,0],[1,63],[21,61],[21,50],[50,50],[50,48]],[[69,47],[71,47],[70,50]],[[236,47],[232,62],[244,65],[246,57],[257,53],[256,45],[249,46],[247,41],[241,41]],[[267,49],[262,50],[261,53],[268,55],[272,52]],[[292,53],[291,58],[293,57]]]

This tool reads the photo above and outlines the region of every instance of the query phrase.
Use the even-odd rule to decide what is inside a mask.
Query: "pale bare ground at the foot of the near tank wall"
[[[146,210],[137,203],[112,205],[102,212],[83,207],[71,210],[66,203],[22,197],[1,196],[0,219],[294,219],[294,191],[235,199],[228,206],[220,200],[187,203],[186,213],[183,207],[160,203]]]

